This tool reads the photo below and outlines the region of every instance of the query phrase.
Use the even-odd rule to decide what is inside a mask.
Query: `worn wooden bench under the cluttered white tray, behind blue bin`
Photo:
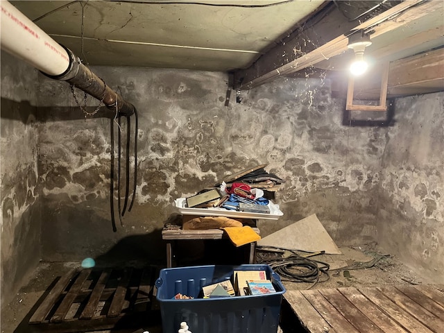
[[[253,228],[257,234],[260,234],[259,228]],[[178,240],[196,240],[196,239],[225,239],[228,238],[225,232],[221,229],[210,230],[171,230],[164,228],[162,230],[162,239],[167,241],[167,268],[173,265],[173,251],[171,248],[171,241]],[[256,242],[250,243],[250,255],[248,264],[255,263]]]

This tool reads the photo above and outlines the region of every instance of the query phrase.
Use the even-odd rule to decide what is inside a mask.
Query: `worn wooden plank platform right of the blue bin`
[[[433,285],[287,291],[309,333],[443,333],[444,293]]]

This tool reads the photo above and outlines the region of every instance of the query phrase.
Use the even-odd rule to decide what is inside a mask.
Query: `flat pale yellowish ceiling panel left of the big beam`
[[[90,65],[230,71],[250,66],[324,1],[10,2]]]

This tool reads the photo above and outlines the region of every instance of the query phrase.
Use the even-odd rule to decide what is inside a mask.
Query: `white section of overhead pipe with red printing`
[[[1,49],[51,76],[68,69],[69,56],[60,44],[8,1],[0,1],[0,6]]]

